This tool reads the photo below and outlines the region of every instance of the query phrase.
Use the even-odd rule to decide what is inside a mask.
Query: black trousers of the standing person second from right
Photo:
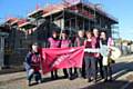
[[[101,78],[104,78],[104,75],[103,75],[103,63],[102,63],[102,61],[103,61],[103,59],[102,59],[102,56],[100,57],[100,58],[96,58],[96,77],[98,77],[98,72],[99,72],[99,69],[100,69],[100,76],[101,76]],[[100,66],[100,68],[99,68],[99,66]]]

